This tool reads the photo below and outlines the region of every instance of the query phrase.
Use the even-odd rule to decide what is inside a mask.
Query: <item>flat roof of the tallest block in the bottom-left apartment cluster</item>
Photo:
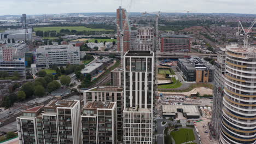
[[[47,107],[73,107],[78,101],[74,100],[51,100],[49,104],[45,105]]]

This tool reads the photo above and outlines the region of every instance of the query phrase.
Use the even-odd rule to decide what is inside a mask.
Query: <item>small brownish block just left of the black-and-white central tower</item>
[[[111,71],[111,85],[123,87],[123,68],[116,68]]]

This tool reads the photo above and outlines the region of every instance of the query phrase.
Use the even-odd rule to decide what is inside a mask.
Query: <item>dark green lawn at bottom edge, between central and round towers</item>
[[[193,129],[179,129],[178,131],[171,131],[171,135],[176,144],[195,140]]]

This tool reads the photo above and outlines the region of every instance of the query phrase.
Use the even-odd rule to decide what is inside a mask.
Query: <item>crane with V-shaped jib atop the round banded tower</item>
[[[248,39],[249,39],[248,34],[252,31],[252,28],[253,28],[255,23],[256,23],[256,19],[254,19],[251,26],[249,26],[249,28],[245,30],[243,28],[243,25],[242,25],[241,21],[238,21],[238,32],[236,33],[236,35],[243,35],[243,37],[244,37],[243,38],[243,46],[245,48],[248,47]],[[240,26],[241,26],[241,28],[240,28]]]

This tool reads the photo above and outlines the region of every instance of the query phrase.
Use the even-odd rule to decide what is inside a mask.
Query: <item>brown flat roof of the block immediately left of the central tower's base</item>
[[[115,102],[103,103],[102,101],[89,101],[84,105],[84,109],[113,109]]]

